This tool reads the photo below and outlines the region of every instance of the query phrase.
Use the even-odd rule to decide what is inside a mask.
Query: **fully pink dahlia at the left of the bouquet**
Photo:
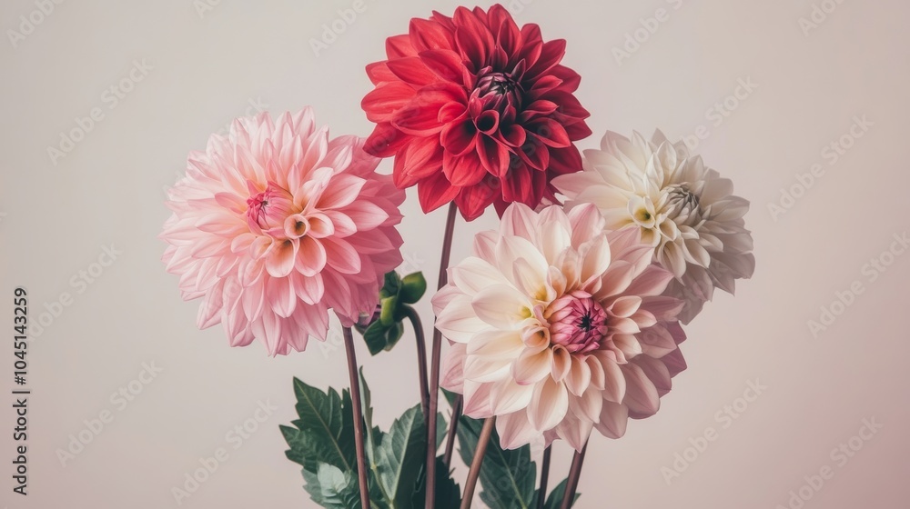
[[[189,155],[160,236],[184,299],[203,299],[199,328],[222,323],[232,346],[288,354],[325,340],[329,308],[345,325],[372,313],[401,263],[404,194],[362,147],[329,139],[305,108],[240,118]]]

